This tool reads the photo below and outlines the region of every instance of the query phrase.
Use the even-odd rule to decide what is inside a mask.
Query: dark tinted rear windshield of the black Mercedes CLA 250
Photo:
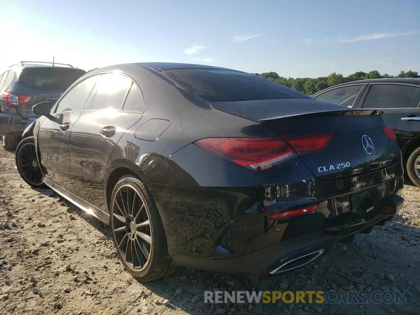
[[[192,95],[209,102],[311,98],[255,74],[214,68],[162,71]]]

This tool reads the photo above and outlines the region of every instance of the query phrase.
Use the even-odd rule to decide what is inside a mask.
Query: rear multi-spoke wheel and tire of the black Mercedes
[[[138,281],[153,281],[173,267],[162,220],[144,183],[125,175],[110,203],[113,241],[123,265]]]

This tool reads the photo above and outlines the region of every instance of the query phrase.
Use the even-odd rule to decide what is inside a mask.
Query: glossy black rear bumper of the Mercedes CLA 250
[[[402,200],[388,196],[401,196],[403,173],[397,163],[319,181],[300,159],[251,172],[189,145],[147,171],[145,181],[174,262],[262,275],[289,255],[326,249],[341,238],[391,220]],[[168,179],[168,174],[173,176]],[[310,205],[318,207],[291,218],[270,218]]]

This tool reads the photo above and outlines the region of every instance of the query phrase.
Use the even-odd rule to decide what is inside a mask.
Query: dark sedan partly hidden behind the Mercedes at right
[[[394,129],[411,181],[420,187],[420,78],[352,81],[312,95],[316,100],[348,108],[374,108]]]

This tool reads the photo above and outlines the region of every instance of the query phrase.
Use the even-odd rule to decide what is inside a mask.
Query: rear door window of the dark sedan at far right
[[[397,84],[373,84],[367,93],[363,108],[418,107],[420,88]]]

